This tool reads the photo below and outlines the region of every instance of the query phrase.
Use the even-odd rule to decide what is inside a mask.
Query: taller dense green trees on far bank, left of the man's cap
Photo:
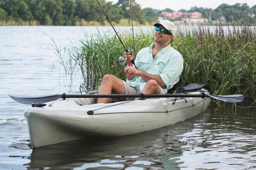
[[[100,0],[108,17],[115,23],[121,19],[130,19],[130,4],[128,0],[118,3]],[[154,22],[157,15],[147,17],[147,9],[131,0],[134,21],[140,24]],[[3,21],[33,21],[41,25],[79,25],[82,21],[105,24],[104,13],[96,0],[0,0],[0,20]]]

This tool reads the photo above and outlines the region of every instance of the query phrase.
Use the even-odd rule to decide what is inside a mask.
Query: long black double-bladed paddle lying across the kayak
[[[12,96],[9,95],[12,99],[19,103],[23,104],[38,104],[38,103],[46,103],[49,101],[54,101],[59,98],[111,98],[111,97],[138,97],[138,98],[155,98],[155,97],[212,97],[217,100],[236,103],[241,102],[244,99],[243,95],[228,95],[228,96],[218,96],[218,95],[210,95],[210,94],[72,94],[66,95],[63,94],[55,94],[55,95],[44,95],[44,96]]]

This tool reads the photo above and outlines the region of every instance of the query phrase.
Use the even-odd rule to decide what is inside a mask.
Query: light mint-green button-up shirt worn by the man
[[[149,47],[142,48],[137,53],[134,62],[139,70],[149,74],[160,75],[166,85],[163,90],[167,93],[167,90],[179,81],[179,76],[183,71],[183,57],[169,44],[161,49],[153,59],[152,48],[154,45],[155,43],[152,43]],[[132,87],[140,87],[140,92],[147,83],[140,76],[135,76],[133,80],[126,79],[126,82]]]

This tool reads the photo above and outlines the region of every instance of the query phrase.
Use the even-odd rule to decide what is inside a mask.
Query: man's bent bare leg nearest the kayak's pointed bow
[[[118,77],[104,75],[99,94],[125,94],[124,83]],[[124,99],[123,99],[124,100]],[[97,103],[109,103],[110,98],[98,98]]]

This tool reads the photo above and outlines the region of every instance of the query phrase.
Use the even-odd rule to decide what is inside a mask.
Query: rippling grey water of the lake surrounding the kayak
[[[229,105],[140,134],[30,148],[23,116],[29,106],[8,94],[77,93],[83,80],[77,73],[70,81],[51,37],[62,49],[84,32],[97,29],[0,27],[0,169],[256,169],[255,109]]]

